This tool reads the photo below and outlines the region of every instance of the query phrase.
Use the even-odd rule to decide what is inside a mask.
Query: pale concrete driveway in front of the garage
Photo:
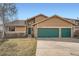
[[[65,41],[64,41],[65,40]],[[79,56],[79,39],[37,40],[37,56]]]

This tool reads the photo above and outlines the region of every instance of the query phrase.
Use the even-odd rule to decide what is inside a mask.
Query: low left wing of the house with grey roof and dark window
[[[6,24],[7,32],[25,33],[26,29],[25,20],[15,20]]]

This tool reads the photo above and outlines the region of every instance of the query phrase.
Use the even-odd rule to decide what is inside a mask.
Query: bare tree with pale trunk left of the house
[[[2,39],[6,39],[6,27],[5,24],[16,17],[16,6],[14,3],[0,3],[0,18],[3,22],[3,33],[2,33]]]

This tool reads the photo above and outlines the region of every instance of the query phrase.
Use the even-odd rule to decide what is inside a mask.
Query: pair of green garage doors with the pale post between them
[[[71,28],[38,28],[38,38],[70,38]]]

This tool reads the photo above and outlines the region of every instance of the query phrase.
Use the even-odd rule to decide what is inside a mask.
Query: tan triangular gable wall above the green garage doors
[[[68,22],[66,22],[66,21],[64,21],[64,20],[61,20],[60,18],[57,18],[57,17],[53,17],[53,18],[51,18],[51,19],[48,19],[47,21],[44,21],[44,22],[41,22],[41,23],[39,23],[38,24],[38,26],[37,27],[52,27],[52,26],[55,26],[55,27],[57,27],[57,26],[59,26],[59,27],[71,27],[71,26],[73,26],[72,24],[70,24],[70,23],[68,23]]]

